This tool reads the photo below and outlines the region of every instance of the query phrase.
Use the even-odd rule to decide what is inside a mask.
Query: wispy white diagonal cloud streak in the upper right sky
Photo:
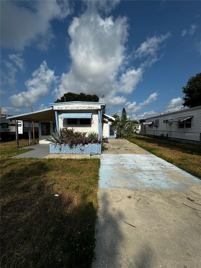
[[[169,37],[171,37],[170,32],[167,32],[166,35],[147,37],[147,40],[144,41],[135,51],[135,57],[142,58],[146,56],[151,56],[155,58],[156,52],[160,48],[159,44],[165,41]]]

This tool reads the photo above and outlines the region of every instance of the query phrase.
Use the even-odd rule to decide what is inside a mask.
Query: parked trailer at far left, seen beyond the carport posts
[[[0,117],[0,140],[8,141],[15,139],[15,119],[6,119],[7,116]],[[17,121],[18,133],[23,134],[23,122]]]

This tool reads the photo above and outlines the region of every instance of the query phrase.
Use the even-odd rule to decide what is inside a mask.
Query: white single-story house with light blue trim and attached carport
[[[84,102],[71,101],[50,103],[50,108],[19,114],[8,117],[18,120],[38,121],[39,122],[39,143],[49,143],[46,138],[50,135],[50,129],[57,131],[64,127],[73,128],[77,131],[98,133],[99,138],[115,138],[114,129],[111,122],[115,118],[106,115],[106,103],[104,102]]]

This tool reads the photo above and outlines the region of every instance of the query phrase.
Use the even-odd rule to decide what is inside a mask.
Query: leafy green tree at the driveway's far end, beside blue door
[[[125,139],[130,134],[135,132],[135,124],[133,120],[127,117],[125,108],[122,110],[122,117],[120,118],[117,113],[113,114],[115,121],[112,122],[112,125],[116,131],[117,139]]]

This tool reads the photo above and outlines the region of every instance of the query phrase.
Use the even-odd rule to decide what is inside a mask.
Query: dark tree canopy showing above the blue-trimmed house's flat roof
[[[99,97],[97,95],[90,95],[85,93],[76,94],[73,92],[64,93],[61,99],[57,99],[56,102],[68,102],[68,101],[91,101],[99,102]]]

